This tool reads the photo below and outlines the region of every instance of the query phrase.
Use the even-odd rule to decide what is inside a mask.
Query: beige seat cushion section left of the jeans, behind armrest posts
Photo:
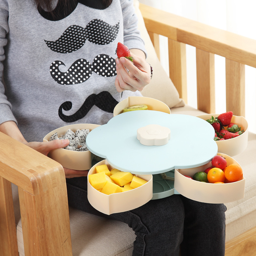
[[[18,188],[12,184],[19,256],[25,256]],[[125,223],[69,208],[73,256],[131,256],[135,234]]]

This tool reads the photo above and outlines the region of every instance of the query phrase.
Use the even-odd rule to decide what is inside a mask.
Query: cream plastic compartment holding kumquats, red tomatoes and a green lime
[[[227,165],[238,164],[232,157],[226,154],[218,153],[217,155],[225,157]],[[207,167],[211,166],[212,164],[210,162],[195,168],[175,170],[174,188],[181,195],[203,203],[222,204],[243,199],[245,187],[244,177],[232,183],[212,184],[191,180],[184,176],[193,177],[196,172],[203,172]]]

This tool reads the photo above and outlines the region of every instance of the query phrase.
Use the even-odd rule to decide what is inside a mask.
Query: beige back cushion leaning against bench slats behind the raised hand
[[[184,101],[180,99],[179,93],[173,85],[172,80],[167,76],[156,56],[155,48],[150,40],[143,17],[139,10],[138,0],[134,0],[134,8],[139,20],[138,27],[148,52],[147,61],[153,67],[153,77],[151,82],[142,90],[141,93],[144,97],[163,101],[169,108],[182,107],[184,106]]]

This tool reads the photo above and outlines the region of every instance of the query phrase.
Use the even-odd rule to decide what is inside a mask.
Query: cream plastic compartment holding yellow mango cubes
[[[107,164],[108,169],[111,170],[114,167],[108,164],[107,160],[102,160],[99,163],[92,166],[88,175],[95,173],[95,167],[97,165]],[[137,175],[141,179],[148,182],[139,188],[134,188],[129,191],[114,193],[110,195],[103,194],[92,187],[89,180],[88,184],[88,200],[90,204],[98,211],[105,214],[112,214],[117,212],[125,212],[140,207],[146,204],[153,196],[153,176],[149,175]]]

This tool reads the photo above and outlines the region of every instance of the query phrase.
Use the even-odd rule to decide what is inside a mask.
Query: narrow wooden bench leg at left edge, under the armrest
[[[2,177],[0,177],[0,255],[19,255],[11,182]]]

